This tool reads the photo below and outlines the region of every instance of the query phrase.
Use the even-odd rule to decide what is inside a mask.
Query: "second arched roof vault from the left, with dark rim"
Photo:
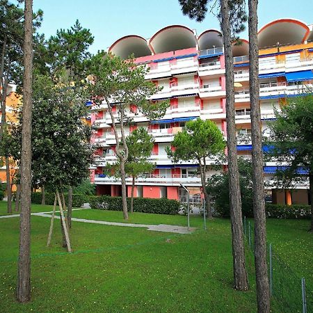
[[[195,34],[182,25],[167,26],[157,31],[149,42],[155,54],[196,47]]]

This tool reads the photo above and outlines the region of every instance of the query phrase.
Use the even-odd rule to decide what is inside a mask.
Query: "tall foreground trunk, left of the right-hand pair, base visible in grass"
[[[232,223],[232,256],[234,268],[234,289],[248,290],[245,251],[243,246],[243,223],[241,214],[241,195],[239,169],[236,154],[236,125],[234,108],[234,64],[232,59],[232,37],[228,0],[220,1],[222,32],[225,50],[226,79],[226,120],[227,120],[227,158],[230,174],[230,218]]]

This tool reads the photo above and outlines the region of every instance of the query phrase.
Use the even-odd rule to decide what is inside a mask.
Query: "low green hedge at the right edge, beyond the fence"
[[[286,204],[268,204],[266,203],[266,216],[268,218],[311,218],[310,205],[286,205]]]

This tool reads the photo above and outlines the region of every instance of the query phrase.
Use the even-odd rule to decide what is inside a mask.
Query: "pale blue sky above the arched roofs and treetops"
[[[178,0],[33,0],[33,9],[38,8],[44,11],[39,33],[49,38],[57,29],[69,29],[79,19],[95,37],[90,47],[92,53],[106,50],[125,35],[151,38],[159,29],[171,24],[188,26],[198,35],[207,29],[220,29],[217,18],[211,13],[207,13],[201,23],[184,16]],[[312,11],[313,0],[259,0],[259,28],[284,17],[313,24]],[[248,31],[240,37],[248,38]]]

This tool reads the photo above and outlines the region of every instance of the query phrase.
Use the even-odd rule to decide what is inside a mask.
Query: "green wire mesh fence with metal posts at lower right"
[[[250,221],[243,218],[243,232],[252,252],[255,251],[255,232]],[[302,278],[280,257],[271,243],[267,245],[268,278],[273,312],[313,313],[313,290],[305,285]]]

